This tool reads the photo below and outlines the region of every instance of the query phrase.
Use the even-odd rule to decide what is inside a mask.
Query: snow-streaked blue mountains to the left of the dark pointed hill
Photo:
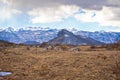
[[[14,31],[12,28],[9,28],[0,31],[1,40],[6,40],[13,43],[24,43],[27,41],[36,41],[42,43],[47,42],[56,36],[57,36],[56,29],[48,30],[19,29],[18,31]]]

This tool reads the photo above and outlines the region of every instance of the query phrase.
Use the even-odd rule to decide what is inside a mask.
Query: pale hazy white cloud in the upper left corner
[[[0,22],[4,22],[17,14],[22,13],[20,10],[12,8],[12,0],[0,0]]]

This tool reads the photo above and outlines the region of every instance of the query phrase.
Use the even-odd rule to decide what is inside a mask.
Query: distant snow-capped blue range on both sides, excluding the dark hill
[[[60,29],[51,29],[49,27],[27,27],[15,30],[14,28],[0,29],[0,40],[5,40],[13,43],[26,43],[26,42],[48,42],[57,37]],[[105,31],[79,31],[77,29],[68,29],[75,35],[80,35],[86,38],[92,38],[96,41],[104,43],[113,43],[120,39],[120,32],[105,32]]]

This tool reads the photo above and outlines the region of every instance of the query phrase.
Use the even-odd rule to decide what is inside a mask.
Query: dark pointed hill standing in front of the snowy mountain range
[[[65,44],[65,45],[102,45],[103,43],[91,38],[74,35],[65,29],[58,32],[58,36],[48,42],[51,45]]]

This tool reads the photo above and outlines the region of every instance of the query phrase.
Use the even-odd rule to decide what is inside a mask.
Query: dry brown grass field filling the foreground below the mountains
[[[34,46],[1,49],[0,70],[12,74],[0,80],[120,80],[117,69],[120,51],[89,46],[77,49]]]

